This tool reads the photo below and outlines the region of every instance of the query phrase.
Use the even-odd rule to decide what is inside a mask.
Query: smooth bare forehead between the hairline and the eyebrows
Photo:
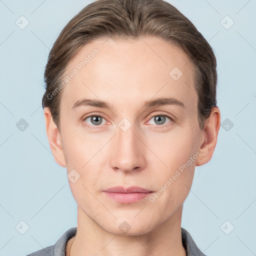
[[[82,46],[68,63],[61,104],[71,107],[83,96],[123,106],[134,99],[175,96],[196,105],[193,75],[183,50],[163,39],[95,40]]]

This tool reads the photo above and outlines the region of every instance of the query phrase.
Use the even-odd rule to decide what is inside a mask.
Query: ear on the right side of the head
[[[204,129],[200,140],[201,154],[197,157],[195,165],[199,166],[208,162],[214,152],[220,127],[220,111],[217,106],[211,108],[210,116],[204,121]]]

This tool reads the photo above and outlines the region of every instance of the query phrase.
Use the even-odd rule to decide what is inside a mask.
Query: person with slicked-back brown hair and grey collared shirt
[[[205,255],[181,227],[220,126],[211,46],[164,0],[96,0],[54,42],[42,98],[77,227],[29,256]]]

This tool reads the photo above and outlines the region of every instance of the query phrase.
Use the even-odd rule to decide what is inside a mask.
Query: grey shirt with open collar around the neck
[[[37,250],[26,256],[65,256],[67,241],[76,234],[77,227],[71,227],[66,230],[54,245]],[[206,256],[196,246],[191,235],[181,227],[182,245],[186,250],[186,256]]]

